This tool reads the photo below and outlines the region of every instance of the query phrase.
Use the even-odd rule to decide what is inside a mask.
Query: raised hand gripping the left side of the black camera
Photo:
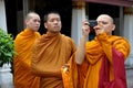
[[[89,21],[86,21],[86,20],[82,22],[82,33],[83,33],[83,36],[85,36],[85,37],[89,36],[90,26],[89,26]]]

